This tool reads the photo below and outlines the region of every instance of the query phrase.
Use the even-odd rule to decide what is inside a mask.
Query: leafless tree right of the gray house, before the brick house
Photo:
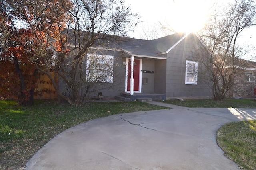
[[[201,50],[194,53],[194,59],[204,67],[198,74],[210,80],[214,100],[223,100],[228,92],[232,96],[234,76],[246,64],[241,60],[246,47],[238,44],[238,38],[242,31],[255,25],[254,0],[235,0],[225,8],[202,32],[209,53],[203,54]]]

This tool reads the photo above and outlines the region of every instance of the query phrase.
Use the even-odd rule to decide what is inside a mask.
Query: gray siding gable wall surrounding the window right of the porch
[[[188,36],[167,54],[166,99],[209,98],[211,96],[208,86],[200,80],[199,75],[197,85],[185,84],[186,60],[191,60],[194,42],[195,39]]]

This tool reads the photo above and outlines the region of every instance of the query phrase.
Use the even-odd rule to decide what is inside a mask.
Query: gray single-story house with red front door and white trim
[[[104,98],[121,100],[212,97],[211,89],[197,75],[200,63],[190,59],[196,47],[203,45],[196,33],[175,33],[155,40],[121,40],[109,42],[104,48],[92,48],[100,50],[101,63],[112,60],[112,66],[108,66],[110,74],[101,80],[111,84],[111,88],[101,87],[91,96],[102,94]],[[91,55],[88,53],[87,57]],[[88,61],[89,58],[87,64]]]

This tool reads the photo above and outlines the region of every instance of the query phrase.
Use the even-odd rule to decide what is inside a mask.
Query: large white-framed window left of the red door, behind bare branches
[[[91,65],[91,57],[96,57],[93,65]],[[99,54],[87,54],[86,57],[86,79],[90,82],[106,82],[113,83],[113,69],[114,69],[114,56],[112,55],[99,55]],[[109,62],[106,64],[106,62]],[[108,66],[108,68],[99,69],[100,66]],[[96,68],[92,68],[96,67]],[[95,74],[92,75],[92,74]],[[104,78],[104,80],[102,80]],[[88,80],[90,79],[90,80]]]

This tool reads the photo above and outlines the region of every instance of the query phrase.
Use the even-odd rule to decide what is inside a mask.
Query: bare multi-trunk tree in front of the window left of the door
[[[69,102],[78,105],[84,102],[97,84],[112,85],[106,76],[112,74],[109,69],[113,59],[106,61],[105,58],[102,62],[102,57],[89,57],[87,54],[91,47],[106,47],[106,43],[119,41],[118,37],[126,36],[128,31],[132,31],[138,15],[133,14],[122,1],[74,0],[73,4],[74,8],[70,10],[72,22],[68,23],[69,32],[66,33],[67,43],[73,45],[70,48],[73,53],[69,54],[68,60],[60,57],[57,72],[70,89]],[[103,71],[106,69],[108,71]]]

